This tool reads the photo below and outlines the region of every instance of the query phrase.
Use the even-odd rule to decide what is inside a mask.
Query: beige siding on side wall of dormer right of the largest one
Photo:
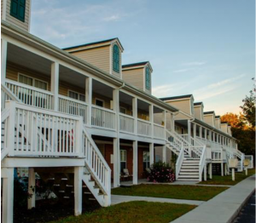
[[[123,80],[132,84],[137,89],[143,90],[143,74],[144,68],[123,70]]]

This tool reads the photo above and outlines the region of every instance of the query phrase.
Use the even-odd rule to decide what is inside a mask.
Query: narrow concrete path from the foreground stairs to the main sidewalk
[[[137,196],[111,195],[111,204],[131,202],[131,201],[183,203],[183,204],[191,204],[191,205],[197,205],[197,206],[201,205],[202,203],[205,203],[203,201],[170,199],[170,198],[160,198],[160,197],[137,197]]]

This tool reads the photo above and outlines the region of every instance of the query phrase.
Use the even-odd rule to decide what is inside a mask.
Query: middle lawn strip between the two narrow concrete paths
[[[229,187],[220,186],[187,186],[187,185],[163,185],[141,184],[131,187],[118,187],[112,190],[112,194],[142,196],[142,197],[165,197],[186,200],[207,201],[218,193],[224,192]]]

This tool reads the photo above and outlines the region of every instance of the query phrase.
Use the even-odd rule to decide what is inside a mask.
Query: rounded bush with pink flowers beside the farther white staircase
[[[168,163],[157,162],[152,164],[148,181],[154,183],[170,183],[175,181],[175,174]]]

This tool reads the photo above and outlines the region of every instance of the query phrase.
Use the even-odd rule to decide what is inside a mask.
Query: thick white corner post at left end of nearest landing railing
[[[15,114],[16,114],[16,102],[15,101],[7,101],[6,108],[9,108],[9,118],[8,122],[5,124],[5,128],[8,128],[8,135],[7,135],[7,148],[9,157],[13,157],[15,154]],[[19,135],[16,136],[17,138]],[[18,140],[17,140],[17,146]]]

